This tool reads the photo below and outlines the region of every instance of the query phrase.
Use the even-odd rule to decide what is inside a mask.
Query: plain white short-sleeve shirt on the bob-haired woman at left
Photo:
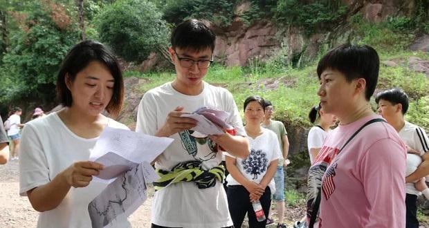
[[[107,126],[128,129],[109,119]],[[19,154],[19,194],[51,182],[73,162],[89,160],[98,137],[85,139],[75,135],[57,113],[26,123],[22,131]],[[107,184],[90,182],[87,187],[71,188],[60,205],[39,213],[37,227],[91,227],[88,204]],[[131,227],[126,218],[113,220],[109,227]]]

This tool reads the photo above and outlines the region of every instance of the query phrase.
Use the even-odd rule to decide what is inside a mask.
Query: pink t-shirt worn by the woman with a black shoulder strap
[[[328,166],[319,227],[405,227],[406,149],[393,127],[369,124],[338,154],[349,137],[374,118],[381,116],[338,126],[316,157],[311,169]]]

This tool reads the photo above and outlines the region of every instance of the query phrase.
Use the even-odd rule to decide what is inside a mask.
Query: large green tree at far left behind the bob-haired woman
[[[9,46],[1,59],[0,102],[53,100],[56,72],[79,35],[67,8],[53,1],[29,1],[8,12],[18,26],[9,30]]]

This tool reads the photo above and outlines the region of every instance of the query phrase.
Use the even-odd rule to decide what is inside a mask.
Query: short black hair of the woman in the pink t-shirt
[[[365,98],[367,101],[375,91],[378,81],[380,59],[374,48],[363,45],[342,44],[320,59],[318,64],[318,77],[326,69],[338,70],[345,75],[347,82],[353,79],[365,79]]]

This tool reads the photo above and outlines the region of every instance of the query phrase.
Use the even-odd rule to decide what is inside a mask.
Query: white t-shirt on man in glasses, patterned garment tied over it
[[[153,88],[138,106],[136,131],[154,135],[177,106],[192,113],[208,106],[230,113],[228,124],[237,135],[246,135],[232,94],[225,88],[203,82],[199,95],[184,95],[176,91],[171,82]],[[222,152],[209,137],[194,131],[181,131],[170,136],[174,142],[158,157],[155,167],[171,170],[179,162],[198,160],[203,169],[221,163]],[[220,182],[215,187],[199,189],[194,182],[179,182],[156,191],[152,200],[152,223],[163,227],[219,228],[232,226],[226,193]]]

